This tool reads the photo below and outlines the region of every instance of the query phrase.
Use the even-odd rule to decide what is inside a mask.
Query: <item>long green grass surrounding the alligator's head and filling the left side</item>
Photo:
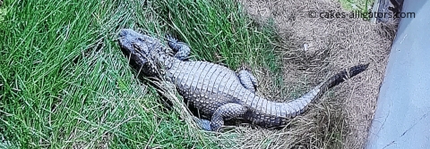
[[[99,2],[4,1],[1,148],[217,147],[136,79],[117,46],[119,29],[170,32],[195,59],[280,73],[273,32],[257,28],[233,1]]]

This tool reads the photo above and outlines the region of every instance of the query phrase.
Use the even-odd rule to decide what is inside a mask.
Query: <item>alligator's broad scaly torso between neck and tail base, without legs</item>
[[[168,79],[176,84],[187,103],[211,116],[225,103],[241,103],[247,91],[236,72],[211,62],[177,62],[168,70]]]

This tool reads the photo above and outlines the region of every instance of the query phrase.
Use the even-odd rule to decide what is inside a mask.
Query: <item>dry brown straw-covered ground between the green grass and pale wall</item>
[[[282,133],[276,137],[282,143],[271,145],[288,148],[363,148],[374,118],[396,23],[375,24],[350,18],[350,12],[335,0],[241,0],[240,3],[257,23],[274,24],[280,36],[277,50],[283,57],[284,90],[297,93],[280,97],[260,91],[266,97],[292,99],[342,69],[370,62],[368,70],[331,89],[328,95],[323,95],[323,102],[311,107],[316,110],[297,118],[290,127],[258,132],[271,136]],[[323,15],[343,12],[347,17],[309,16],[322,12]],[[262,87],[272,89],[271,85],[264,86],[271,84],[264,70],[259,70],[257,77]]]

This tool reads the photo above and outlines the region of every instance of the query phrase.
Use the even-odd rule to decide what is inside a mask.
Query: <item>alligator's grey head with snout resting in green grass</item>
[[[157,61],[162,54],[159,40],[148,35],[142,35],[133,29],[121,29],[119,45],[123,54],[130,60],[135,70],[148,77],[155,77],[158,73]]]

